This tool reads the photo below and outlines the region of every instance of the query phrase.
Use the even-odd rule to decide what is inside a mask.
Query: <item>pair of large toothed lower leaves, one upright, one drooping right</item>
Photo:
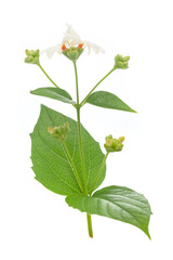
[[[148,223],[151,211],[147,199],[142,194],[122,186],[108,186],[95,192],[90,197],[82,194],[63,144],[48,132],[48,127],[63,125],[66,121],[70,127],[66,145],[83,185],[77,122],[43,105],[31,133],[31,160],[36,180],[54,193],[67,195],[66,202],[69,206],[82,212],[133,224],[149,237]],[[81,129],[88,191],[90,192],[104,159],[104,154],[99,144],[90,133],[82,126]],[[104,167],[94,190],[102,184],[105,171],[106,167]]]

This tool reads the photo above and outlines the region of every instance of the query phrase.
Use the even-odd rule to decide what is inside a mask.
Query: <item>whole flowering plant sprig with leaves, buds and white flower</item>
[[[108,186],[94,192],[104,181],[106,160],[110,153],[120,152],[124,138],[106,136],[104,155],[98,143],[81,125],[81,107],[86,103],[118,110],[135,113],[122,100],[107,91],[95,89],[115,70],[127,69],[130,56],[116,55],[112,68],[107,73],[80,102],[77,60],[84,49],[89,52],[103,52],[98,46],[83,41],[69,26],[61,44],[46,49],[51,57],[54,52],[64,54],[74,64],[76,76],[76,101],[61,89],[45,73],[40,64],[40,51],[26,51],[26,63],[36,64],[54,87],[39,88],[31,91],[76,108],[77,121],[41,106],[39,120],[31,135],[31,160],[36,180],[50,191],[65,195],[66,203],[82,212],[86,212],[89,236],[93,237],[92,214],[99,214],[120,220],[139,227],[150,238],[148,224],[151,214],[148,200],[139,193],[124,186]]]

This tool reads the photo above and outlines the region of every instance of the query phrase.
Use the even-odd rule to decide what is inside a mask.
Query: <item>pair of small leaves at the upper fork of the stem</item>
[[[76,104],[72,101],[71,96],[68,94],[67,91],[57,88],[40,88],[31,91],[31,94],[42,95],[50,99],[58,100],[64,103]],[[119,109],[125,112],[134,112],[130,106],[128,106],[123,101],[121,101],[117,95],[111,94],[107,91],[96,91],[92,93],[89,99],[86,100],[89,104],[111,108],[111,109]]]

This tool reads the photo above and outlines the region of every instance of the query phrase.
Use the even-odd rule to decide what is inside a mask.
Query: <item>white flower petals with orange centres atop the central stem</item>
[[[95,53],[99,53],[99,52],[104,53],[104,50],[101,47],[90,41],[82,40],[80,36],[72,29],[72,26],[67,25],[67,30],[62,40],[62,43],[58,43],[54,47],[45,49],[40,54],[46,53],[48,57],[51,58],[55,52],[57,52],[58,54],[62,54],[62,52],[66,48],[70,48],[70,47],[80,47],[83,49],[88,49],[88,53],[90,53],[91,50],[93,50]]]

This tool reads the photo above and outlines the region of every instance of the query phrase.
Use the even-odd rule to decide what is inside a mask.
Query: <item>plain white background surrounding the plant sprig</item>
[[[172,1],[3,1],[1,20],[1,177],[0,238],[2,260],[173,259],[173,40]],[[117,184],[145,194],[154,214],[151,242],[138,229],[93,216],[94,239],[85,214],[34,179],[30,139],[43,103],[76,118],[68,104],[34,96],[51,87],[25,49],[61,42],[65,24],[106,53],[83,54],[78,62],[81,99],[114,65],[115,54],[130,55],[130,68],[117,70],[97,90],[107,90],[137,114],[85,105],[82,123],[101,143],[124,135],[124,150],[107,161],[102,186]],[[72,64],[55,54],[41,56],[50,76],[75,99]]]

